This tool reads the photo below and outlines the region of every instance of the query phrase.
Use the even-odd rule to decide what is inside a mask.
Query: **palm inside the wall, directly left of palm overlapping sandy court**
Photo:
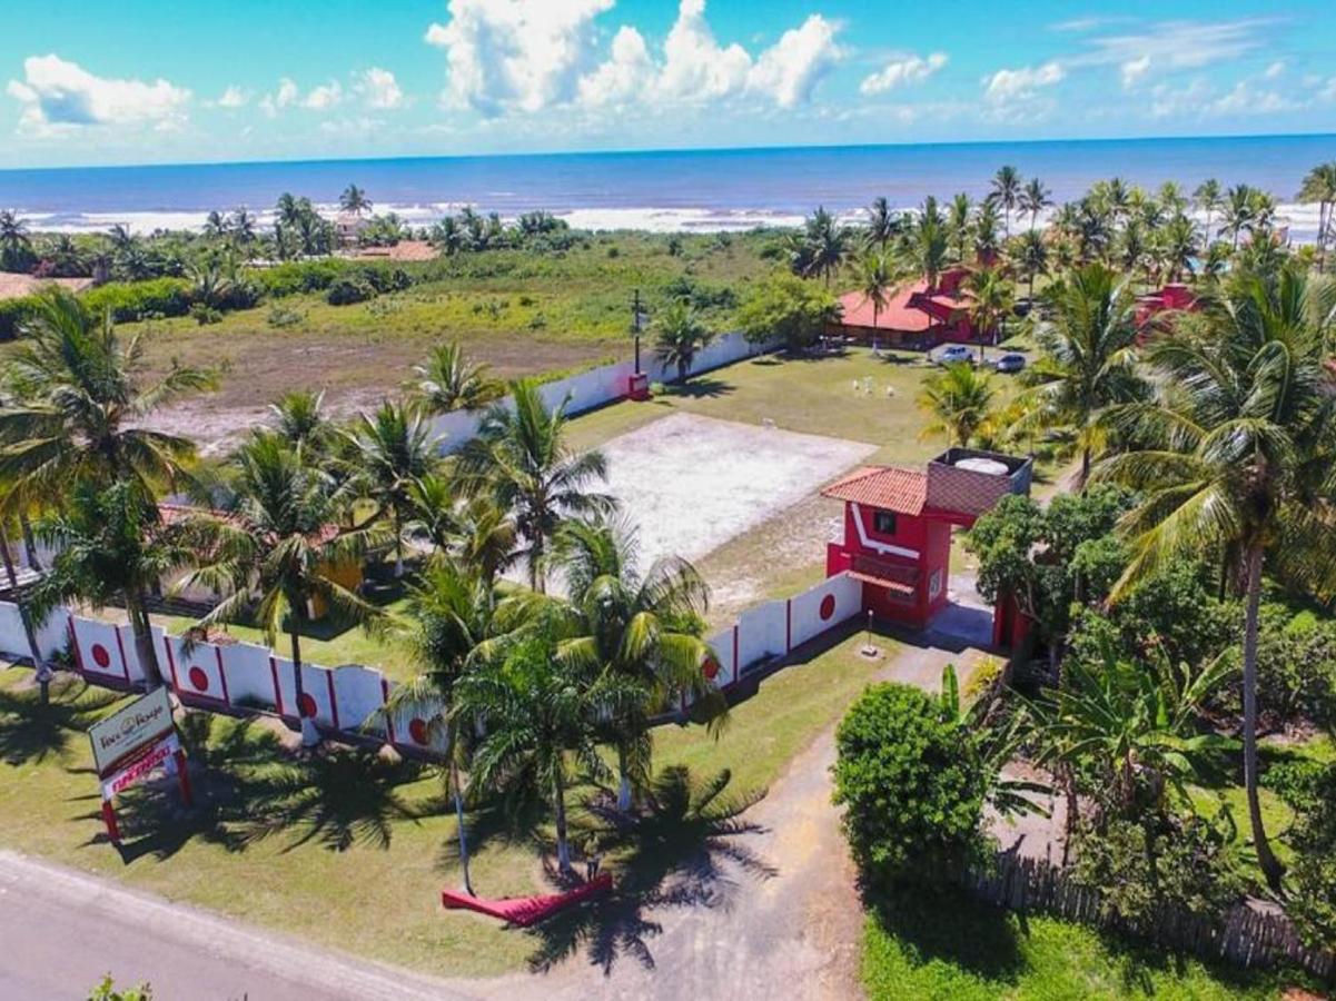
[[[422,416],[402,404],[381,404],[358,414],[343,432],[353,481],[378,505],[375,519],[394,527],[394,576],[403,576],[403,525],[411,516],[409,490],[437,464],[436,444]]]

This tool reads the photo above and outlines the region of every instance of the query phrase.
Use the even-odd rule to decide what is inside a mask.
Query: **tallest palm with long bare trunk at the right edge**
[[[1273,282],[1238,275],[1204,303],[1201,337],[1157,343],[1154,400],[1116,414],[1136,441],[1100,476],[1144,492],[1124,531],[1133,560],[1117,593],[1162,560],[1202,551],[1240,557],[1244,613],[1244,784],[1268,883],[1283,867],[1257,797],[1257,617],[1263,575],[1336,587],[1336,394],[1324,368],[1331,301],[1297,270]]]

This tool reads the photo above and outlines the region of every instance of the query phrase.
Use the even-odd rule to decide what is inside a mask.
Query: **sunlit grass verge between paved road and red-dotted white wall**
[[[848,639],[767,680],[732,711],[719,739],[701,727],[656,731],[656,764],[693,774],[733,772],[733,789],[775,782],[788,760],[831,726],[872,668]],[[454,821],[430,775],[339,752],[294,778],[274,724],[215,718],[194,754],[204,806],[179,811],[167,790],[127,798],[127,849],[102,834],[84,730],[112,696],[64,691],[43,715],[27,672],[0,672],[0,843],[170,899],[303,936],[386,962],[440,974],[524,968],[537,941],[494,922],[444,913],[442,886],[458,883]],[[88,704],[94,700],[92,704]],[[112,699],[114,700],[114,699]],[[203,718],[200,714],[192,714]],[[488,895],[542,885],[529,833],[496,817],[470,821],[474,885]],[[545,823],[538,830],[550,843]],[[651,914],[651,917],[653,917]]]

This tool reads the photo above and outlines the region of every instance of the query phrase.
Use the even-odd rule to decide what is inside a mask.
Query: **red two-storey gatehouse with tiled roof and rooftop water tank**
[[[969,528],[1007,493],[1030,492],[1033,460],[953,448],[926,469],[863,466],[822,494],[844,501],[844,537],[826,548],[826,575],[863,584],[863,609],[925,627],[947,604],[951,529]],[[994,609],[994,643],[1014,632]],[[1003,625],[999,632],[999,625]]]

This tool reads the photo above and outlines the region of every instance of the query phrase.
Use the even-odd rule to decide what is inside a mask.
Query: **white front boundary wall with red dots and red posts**
[[[831,577],[794,597],[743,612],[736,623],[709,637],[712,656],[701,670],[707,678],[713,671],[713,684],[727,690],[748,668],[787,656],[860,611],[862,584],[847,575]],[[134,633],[126,624],[86,619],[60,608],[39,629],[39,643],[47,656],[71,650],[76,670],[92,684],[130,688],[144,680]],[[187,706],[297,718],[297,679],[287,658],[251,643],[187,643],[156,627],[154,650],[163,679]],[[7,601],[0,601],[0,652],[28,655],[19,608]],[[382,710],[393,682],[375,668],[302,664],[302,715],[313,716],[322,730],[353,738],[383,736],[399,748],[426,754],[442,750],[444,734],[429,724],[436,710],[424,707],[417,714],[402,711],[385,719]]]

